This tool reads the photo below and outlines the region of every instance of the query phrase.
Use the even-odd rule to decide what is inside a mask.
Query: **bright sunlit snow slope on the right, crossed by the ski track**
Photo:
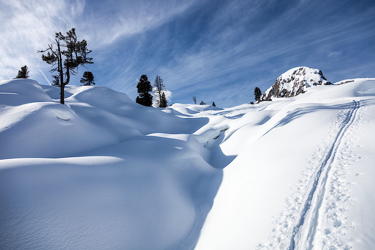
[[[374,249],[374,80],[254,105],[195,249]]]

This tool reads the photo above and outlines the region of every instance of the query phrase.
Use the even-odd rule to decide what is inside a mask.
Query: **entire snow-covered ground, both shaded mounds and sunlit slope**
[[[0,81],[0,249],[375,249],[375,78],[232,108],[65,91]]]

